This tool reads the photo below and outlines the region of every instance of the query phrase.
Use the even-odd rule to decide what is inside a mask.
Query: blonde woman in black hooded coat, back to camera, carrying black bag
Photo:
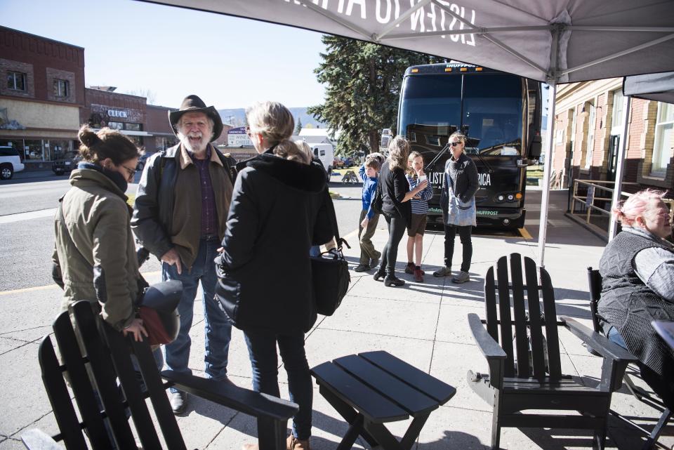
[[[246,117],[259,154],[237,166],[223,253],[216,258],[216,298],[244,331],[253,389],[276,397],[278,345],[290,399],[300,406],[287,448],[306,450],[313,389],[304,333],[317,317],[309,249],[333,236],[325,214],[331,199],[322,166],[290,140],[294,121],[284,105],[257,103]]]

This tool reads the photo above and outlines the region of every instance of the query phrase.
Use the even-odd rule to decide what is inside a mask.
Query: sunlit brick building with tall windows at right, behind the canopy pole
[[[622,79],[564,84],[557,90],[553,169],[557,187],[573,180],[614,181],[627,139],[623,190],[674,186],[674,105],[633,98],[624,137]]]

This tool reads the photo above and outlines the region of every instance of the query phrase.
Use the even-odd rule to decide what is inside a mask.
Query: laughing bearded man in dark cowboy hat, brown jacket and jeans
[[[140,244],[161,260],[161,277],[183,282],[180,298],[180,333],[166,345],[166,365],[191,373],[190,328],[194,298],[201,282],[204,291],[206,375],[227,379],[227,353],[232,327],[214,300],[218,280],[213,258],[225,235],[232,199],[230,164],[211,145],[223,131],[220,114],[197,95],[188,95],[180,110],[169,112],[180,143],[155,154],[138,183],[131,227]],[[171,388],[171,406],[182,413],[187,393]]]

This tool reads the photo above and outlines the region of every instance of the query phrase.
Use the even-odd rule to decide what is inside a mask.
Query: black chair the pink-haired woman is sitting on
[[[597,333],[604,334],[604,329],[601,325],[602,317],[597,311],[597,304],[599,303],[599,299],[602,295],[602,275],[599,273],[599,270],[588,267],[588,285],[590,286],[590,311],[592,312],[592,324]],[[588,348],[588,350],[590,349]],[[649,450],[655,446],[656,442],[658,442],[658,438],[672,417],[672,411],[670,411],[670,409],[665,406],[660,397],[658,397],[654,392],[648,392],[640,386],[637,386],[632,379],[633,377],[641,378],[640,370],[639,367],[635,364],[630,364],[625,371],[625,376],[623,376],[623,382],[630,391],[630,394],[632,394],[643,404],[647,404],[648,406],[652,407],[660,414],[660,417],[658,418],[658,421],[656,422],[653,430],[649,431],[646,428],[643,428],[638,423],[635,423],[635,421],[630,420],[630,418],[627,416],[623,416],[621,413],[614,411],[613,409],[610,412],[613,416],[616,416],[616,418],[619,418],[621,421],[630,425],[630,427],[635,428],[645,435],[646,441],[644,442],[644,445],[641,449]]]

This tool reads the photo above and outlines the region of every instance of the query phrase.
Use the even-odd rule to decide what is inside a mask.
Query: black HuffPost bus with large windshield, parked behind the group
[[[524,227],[527,166],[541,155],[540,82],[456,62],[408,67],[397,130],[422,155],[432,183],[429,223],[442,223],[447,142],[460,131],[479,173],[477,225]]]

